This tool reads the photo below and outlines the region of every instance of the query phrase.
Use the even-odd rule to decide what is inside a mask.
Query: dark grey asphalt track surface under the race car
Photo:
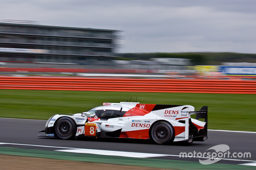
[[[226,158],[221,159],[221,164],[256,163],[255,139],[256,133],[208,131],[208,139],[204,142],[193,144],[173,143],[170,145],[157,145],[150,140],[118,139],[118,138],[91,138],[79,137],[74,140],[60,140],[58,138],[37,137],[38,131],[44,129],[46,121],[0,118],[0,147],[14,147],[23,149],[56,150],[56,148],[81,148],[106,151],[122,151],[137,153],[166,154],[168,156],[156,157],[157,159],[185,160],[198,162],[199,158],[180,158],[180,152],[207,152],[207,149],[226,144],[231,153],[250,152],[251,158]],[[6,144],[7,143],[7,144]],[[18,144],[18,145],[13,145]],[[20,145],[22,144],[22,145]],[[36,146],[35,146],[36,145]],[[52,147],[42,147],[52,146]],[[56,148],[54,148],[56,147]],[[172,155],[172,156],[171,156]],[[176,156],[174,156],[176,155]]]

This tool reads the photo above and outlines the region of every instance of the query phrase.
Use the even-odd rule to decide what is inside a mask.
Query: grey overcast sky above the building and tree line
[[[256,0],[6,0],[5,19],[122,30],[122,53],[256,53]]]

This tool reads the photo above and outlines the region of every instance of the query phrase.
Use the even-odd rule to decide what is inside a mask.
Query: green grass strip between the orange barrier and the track
[[[0,117],[47,120],[136,97],[140,103],[192,105],[195,110],[208,106],[208,129],[256,131],[255,94],[0,90]]]

